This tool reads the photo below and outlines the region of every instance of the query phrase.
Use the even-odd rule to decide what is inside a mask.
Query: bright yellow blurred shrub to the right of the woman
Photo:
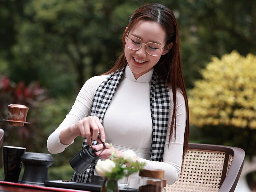
[[[190,123],[256,129],[256,56],[213,57],[189,92]]]

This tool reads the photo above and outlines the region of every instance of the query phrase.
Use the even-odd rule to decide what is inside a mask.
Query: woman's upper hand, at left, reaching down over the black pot
[[[96,116],[84,117],[82,120],[70,125],[67,129],[60,132],[60,142],[64,145],[68,145],[77,136],[81,136],[87,139],[87,143],[90,146],[92,145],[91,139],[100,141],[98,139],[99,132],[102,142],[105,142],[104,127],[100,123],[99,118]]]

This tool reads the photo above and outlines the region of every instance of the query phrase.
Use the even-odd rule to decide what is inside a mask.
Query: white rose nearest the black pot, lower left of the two
[[[105,174],[111,173],[114,167],[116,167],[114,161],[110,159],[106,159],[104,161],[99,159],[95,166],[95,170],[98,175],[100,175],[101,177],[105,177]]]

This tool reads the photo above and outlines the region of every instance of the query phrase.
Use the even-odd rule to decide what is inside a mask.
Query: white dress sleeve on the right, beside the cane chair
[[[170,89],[171,103],[169,110],[169,119],[167,127],[167,135],[164,146],[163,162],[151,161],[139,158],[140,162],[146,163],[146,168],[162,169],[164,170],[164,178],[167,179],[167,184],[171,185],[175,183],[180,177],[182,156],[183,156],[183,141],[186,127],[186,107],[185,99],[181,91],[177,90],[177,101],[176,101],[176,137],[173,132],[170,145],[168,139],[170,136],[170,126],[172,122],[173,112],[173,100],[172,100],[172,89]]]

